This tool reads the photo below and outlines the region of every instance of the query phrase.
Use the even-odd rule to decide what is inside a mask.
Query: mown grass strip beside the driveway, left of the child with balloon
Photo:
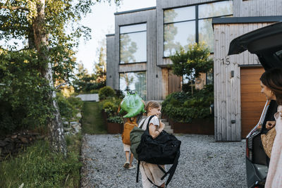
[[[98,102],[86,101],[82,107],[82,132],[87,134],[106,134],[106,126],[102,117],[102,107]]]

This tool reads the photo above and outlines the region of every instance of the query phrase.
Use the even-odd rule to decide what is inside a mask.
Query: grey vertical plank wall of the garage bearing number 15
[[[270,23],[214,24],[214,137],[217,141],[240,141],[240,67],[257,65],[248,51],[227,56],[232,39]],[[234,71],[234,77],[231,77]],[[235,123],[231,123],[235,120]]]

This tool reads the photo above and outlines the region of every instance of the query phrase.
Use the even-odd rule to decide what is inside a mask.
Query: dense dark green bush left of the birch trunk
[[[0,132],[44,126],[52,108],[48,82],[36,70],[32,50],[0,50]]]

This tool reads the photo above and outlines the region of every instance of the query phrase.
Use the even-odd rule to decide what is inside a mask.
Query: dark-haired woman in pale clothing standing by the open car
[[[271,151],[266,188],[282,187],[282,68],[267,70],[260,77],[262,93],[267,99],[276,100],[278,104],[276,120],[276,137]]]

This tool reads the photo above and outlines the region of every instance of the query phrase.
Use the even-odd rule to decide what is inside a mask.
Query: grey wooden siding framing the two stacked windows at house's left
[[[123,71],[143,71],[145,66],[140,63],[135,65],[118,65],[119,63],[119,27],[122,25],[132,25],[137,23],[147,23],[147,65],[146,65],[146,76],[147,76],[147,100],[161,100],[162,89],[161,89],[161,68],[157,66],[157,28],[156,28],[156,9],[147,11],[137,11],[133,13],[118,14],[115,17],[115,51],[116,54],[116,70]],[[118,76],[116,76],[117,82]],[[118,83],[116,83],[118,85]]]

